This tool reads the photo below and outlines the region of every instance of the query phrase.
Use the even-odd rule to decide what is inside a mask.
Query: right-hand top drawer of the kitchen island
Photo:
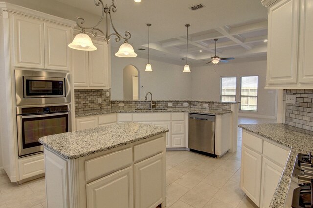
[[[162,151],[165,151],[164,134],[160,138],[134,146],[134,162],[144,160]]]

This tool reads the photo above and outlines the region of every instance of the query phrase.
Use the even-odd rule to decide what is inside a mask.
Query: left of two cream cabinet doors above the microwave
[[[44,23],[18,15],[12,21],[14,66],[45,68]]]

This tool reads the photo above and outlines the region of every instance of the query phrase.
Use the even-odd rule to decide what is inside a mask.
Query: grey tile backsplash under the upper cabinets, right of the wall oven
[[[75,90],[75,111],[88,111],[111,108],[110,90]],[[98,103],[101,99],[101,103]]]

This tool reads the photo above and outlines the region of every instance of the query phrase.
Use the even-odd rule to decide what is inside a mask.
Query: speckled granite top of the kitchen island
[[[125,122],[44,136],[39,139],[39,142],[65,159],[76,159],[131,144],[168,131],[169,129],[163,127]]]

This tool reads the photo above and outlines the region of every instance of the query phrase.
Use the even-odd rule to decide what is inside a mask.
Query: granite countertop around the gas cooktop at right
[[[269,206],[269,208],[284,208],[296,156],[298,153],[313,152],[313,132],[285,124],[240,124],[239,127],[291,148]]]

